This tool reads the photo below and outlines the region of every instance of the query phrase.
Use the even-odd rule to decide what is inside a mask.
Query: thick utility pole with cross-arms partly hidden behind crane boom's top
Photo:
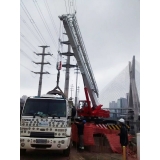
[[[74,67],[76,67],[76,65],[70,64],[70,56],[74,56],[74,53],[71,53],[70,42],[69,41],[63,41],[61,43],[68,45],[68,52],[61,53],[63,56],[67,56],[67,62],[66,62],[66,64],[62,64],[62,67],[66,68],[64,94],[65,94],[66,98],[68,98],[70,68],[74,68]]]

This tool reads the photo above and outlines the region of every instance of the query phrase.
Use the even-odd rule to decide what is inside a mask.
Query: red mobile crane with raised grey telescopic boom
[[[109,110],[103,110],[103,105],[98,102],[98,87],[75,14],[65,14],[59,16],[59,18],[63,22],[63,26],[66,31],[65,34],[69,39],[68,43],[72,46],[73,54],[77,61],[84,83],[86,100],[79,101],[79,104],[82,105],[78,106],[81,106],[81,108],[76,106],[77,115],[87,121],[84,127],[84,144],[95,145],[94,134],[102,134],[106,136],[107,134],[115,133],[115,130],[119,130],[120,128],[116,121],[108,119],[110,117]],[[76,130],[76,126],[73,124],[73,142],[78,139]]]

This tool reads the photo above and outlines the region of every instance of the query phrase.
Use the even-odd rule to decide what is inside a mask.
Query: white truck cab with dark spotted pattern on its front
[[[20,150],[62,150],[70,153],[71,104],[62,96],[28,97],[20,124]]]

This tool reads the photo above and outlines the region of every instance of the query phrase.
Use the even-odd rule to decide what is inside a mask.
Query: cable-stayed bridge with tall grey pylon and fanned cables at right
[[[132,62],[100,92],[100,102],[110,110],[111,118],[124,118],[131,131],[140,130],[140,64],[133,56]],[[136,124],[136,125],[135,125]]]

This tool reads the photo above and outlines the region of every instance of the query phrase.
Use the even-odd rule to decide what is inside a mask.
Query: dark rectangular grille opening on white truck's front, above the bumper
[[[30,137],[54,138],[54,132],[31,132]]]

